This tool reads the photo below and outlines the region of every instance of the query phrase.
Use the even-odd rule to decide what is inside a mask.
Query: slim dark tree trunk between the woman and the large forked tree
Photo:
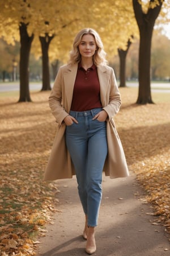
[[[128,40],[127,49],[118,49],[118,56],[120,58],[120,87],[126,86],[126,56],[130,47],[130,40]]]

